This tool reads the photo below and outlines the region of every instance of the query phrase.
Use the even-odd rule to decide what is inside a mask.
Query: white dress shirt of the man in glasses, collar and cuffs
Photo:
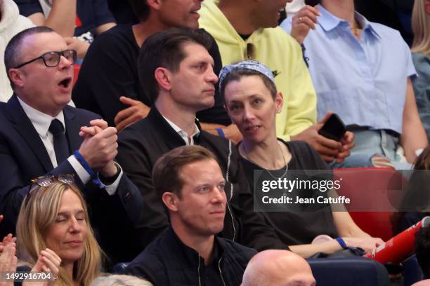
[[[33,107],[30,107],[30,105],[23,102],[20,97],[17,98],[21,104],[22,109],[24,109],[25,114],[27,114],[27,117],[32,122],[34,129],[36,129],[37,134],[39,134],[41,141],[44,143],[46,152],[48,152],[48,156],[51,159],[53,168],[57,168],[58,162],[56,158],[56,152],[54,151],[53,147],[53,135],[51,132],[49,132],[49,126],[51,125],[51,121],[58,119],[63,124],[63,128],[65,130],[63,111],[61,111],[56,117],[52,117],[37,109],[34,109]],[[77,161],[77,158],[75,158],[74,155],[67,158],[67,161],[69,161],[70,165],[72,165],[72,168],[77,173],[83,184],[89,182],[91,179],[89,173],[86,172],[85,168],[81,165],[81,163],[79,163],[79,161]],[[117,191],[119,179],[121,179],[123,173],[122,168],[120,168],[119,165],[117,165],[117,167],[120,169],[120,173],[115,182],[109,186],[102,186],[105,187],[107,193],[109,193],[111,196]]]

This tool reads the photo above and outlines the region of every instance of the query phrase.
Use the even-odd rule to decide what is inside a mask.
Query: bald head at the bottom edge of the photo
[[[249,261],[242,286],[314,286],[311,266],[287,250],[265,250]]]

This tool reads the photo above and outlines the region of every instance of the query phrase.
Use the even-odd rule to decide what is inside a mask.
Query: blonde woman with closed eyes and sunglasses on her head
[[[39,262],[39,271],[52,272],[60,259],[53,285],[88,286],[100,274],[101,250],[72,175],[34,180],[20,208],[17,237],[20,258]]]

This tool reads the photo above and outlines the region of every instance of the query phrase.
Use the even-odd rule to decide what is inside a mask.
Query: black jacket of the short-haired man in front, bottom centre
[[[231,240],[215,237],[219,248],[216,265],[224,286],[240,285],[242,276],[256,251]],[[205,282],[204,259],[184,245],[171,227],[136,257],[126,274],[150,280],[154,285],[214,285]],[[217,285],[219,286],[219,285]]]

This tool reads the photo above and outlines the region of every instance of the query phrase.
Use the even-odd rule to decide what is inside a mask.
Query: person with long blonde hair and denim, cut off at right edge
[[[430,139],[430,1],[415,0],[412,11],[412,60],[418,77],[413,82],[419,116]]]

